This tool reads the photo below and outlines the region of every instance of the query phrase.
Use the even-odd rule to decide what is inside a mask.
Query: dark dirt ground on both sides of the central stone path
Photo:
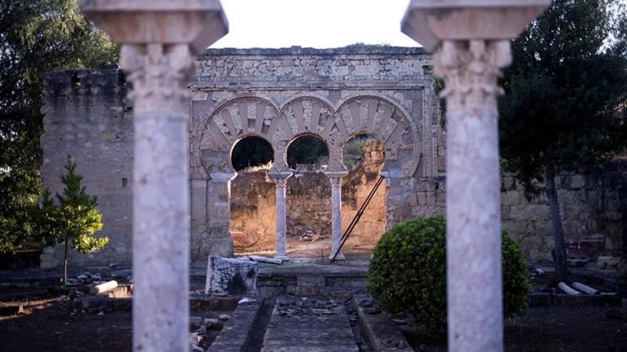
[[[306,255],[307,252],[294,252]],[[534,280],[534,292],[546,289],[549,277]],[[0,288],[0,352],[131,351],[130,304],[81,311],[60,294],[47,293],[51,282]],[[21,306],[21,311],[19,310]],[[192,311],[216,318],[224,311]],[[228,314],[229,312],[227,312]],[[445,331],[400,326],[415,351],[446,351]],[[209,331],[209,341],[218,331]],[[505,324],[505,351],[627,351],[627,308],[619,305],[536,306]]]

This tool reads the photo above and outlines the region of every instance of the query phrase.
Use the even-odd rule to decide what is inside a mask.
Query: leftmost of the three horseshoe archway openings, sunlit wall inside
[[[272,250],[275,242],[275,186],[268,171],[274,150],[266,139],[244,137],[234,145],[231,163],[237,176],[231,181],[229,233],[234,252]]]

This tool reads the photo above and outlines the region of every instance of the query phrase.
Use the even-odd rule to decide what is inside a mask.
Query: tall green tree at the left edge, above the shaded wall
[[[31,238],[41,193],[41,87],[48,71],[117,63],[77,0],[0,1],[0,252]]]

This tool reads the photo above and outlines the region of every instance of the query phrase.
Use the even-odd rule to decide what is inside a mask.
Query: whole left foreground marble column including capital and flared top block
[[[81,7],[122,43],[121,66],[133,83],[133,351],[187,351],[185,86],[195,54],[223,36],[227,24],[217,0],[84,0]]]

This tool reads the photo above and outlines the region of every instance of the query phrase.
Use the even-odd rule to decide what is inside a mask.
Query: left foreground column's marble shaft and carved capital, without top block
[[[190,185],[185,44],[122,47],[134,100],[133,350],[187,351]]]

